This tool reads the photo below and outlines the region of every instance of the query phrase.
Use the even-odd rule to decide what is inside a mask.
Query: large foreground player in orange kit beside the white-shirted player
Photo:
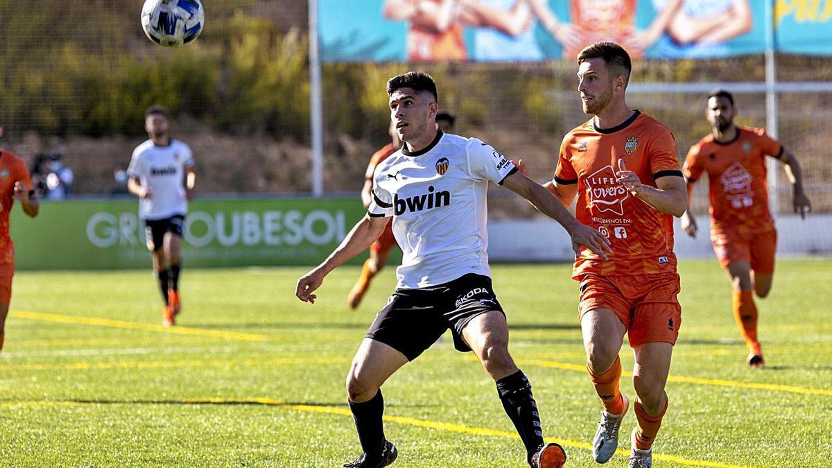
[[[592,455],[598,463],[612,457],[630,406],[618,387],[618,352],[627,334],[638,396],[628,466],[651,466],[681,325],[673,216],[681,217],[687,207],[685,178],[670,130],[626,105],[631,60],[624,48],[597,42],[584,48],[577,62],[583,111],[593,117],[563,138],[555,176],[546,187],[564,206],[577,195],[577,220],[602,232],[612,246],[609,261],[582,249],[572,272],[580,283],[587,371],[604,406]],[[525,172],[522,162],[518,165]]]

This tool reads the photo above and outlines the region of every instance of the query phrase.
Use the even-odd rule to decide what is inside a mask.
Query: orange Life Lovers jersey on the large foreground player
[[[676,271],[673,217],[633,197],[616,182],[618,161],[641,183],[682,177],[676,140],[664,125],[636,111],[618,127],[598,129],[592,120],[563,137],[555,170],[558,185],[577,184],[577,220],[607,236],[609,261],[582,249],[572,277],[651,275]]]

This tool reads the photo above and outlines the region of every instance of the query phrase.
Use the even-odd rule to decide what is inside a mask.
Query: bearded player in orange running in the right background
[[[785,164],[794,190],[795,212],[811,211],[803,192],[803,173],[795,155],[760,128],[734,124],[736,107],[730,92],[715,90],[708,96],[706,116],[713,129],[691,147],[685,160],[688,193],[703,172],[711,192],[711,241],[716,258],[733,286],[734,317],[748,349],[748,364],[765,364],[757,340],[757,296],[768,296],[775,271],[777,232],[769,212],[765,157]],[[696,236],[696,218],[686,212],[682,227]]]

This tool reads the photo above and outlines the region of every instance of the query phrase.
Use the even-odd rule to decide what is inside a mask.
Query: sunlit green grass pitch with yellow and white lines
[[[329,276],[314,305],[305,269],[188,270],[179,325],[161,327],[146,271],[18,272],[0,354],[0,466],[340,466],[359,452],[344,376],[393,268],[357,311],[358,274]],[[596,466],[601,408],[584,366],[567,265],[494,266],[510,350],[567,466]],[[745,365],[716,261],[682,261],[671,406],[654,466],[832,466],[832,262],[784,259],[758,301],[768,366]],[[631,371],[629,347],[622,364]],[[633,396],[629,374],[622,389]],[[493,382],[439,342],[384,386],[402,467],[522,467]],[[622,426],[626,466],[632,413]]]

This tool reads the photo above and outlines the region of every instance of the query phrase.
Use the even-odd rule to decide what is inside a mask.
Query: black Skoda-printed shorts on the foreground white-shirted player
[[[463,329],[473,317],[489,311],[503,312],[491,278],[469,273],[438,286],[397,289],[375,316],[366,337],[413,361],[450,328],[453,346],[458,351],[471,351],[463,341]]]

